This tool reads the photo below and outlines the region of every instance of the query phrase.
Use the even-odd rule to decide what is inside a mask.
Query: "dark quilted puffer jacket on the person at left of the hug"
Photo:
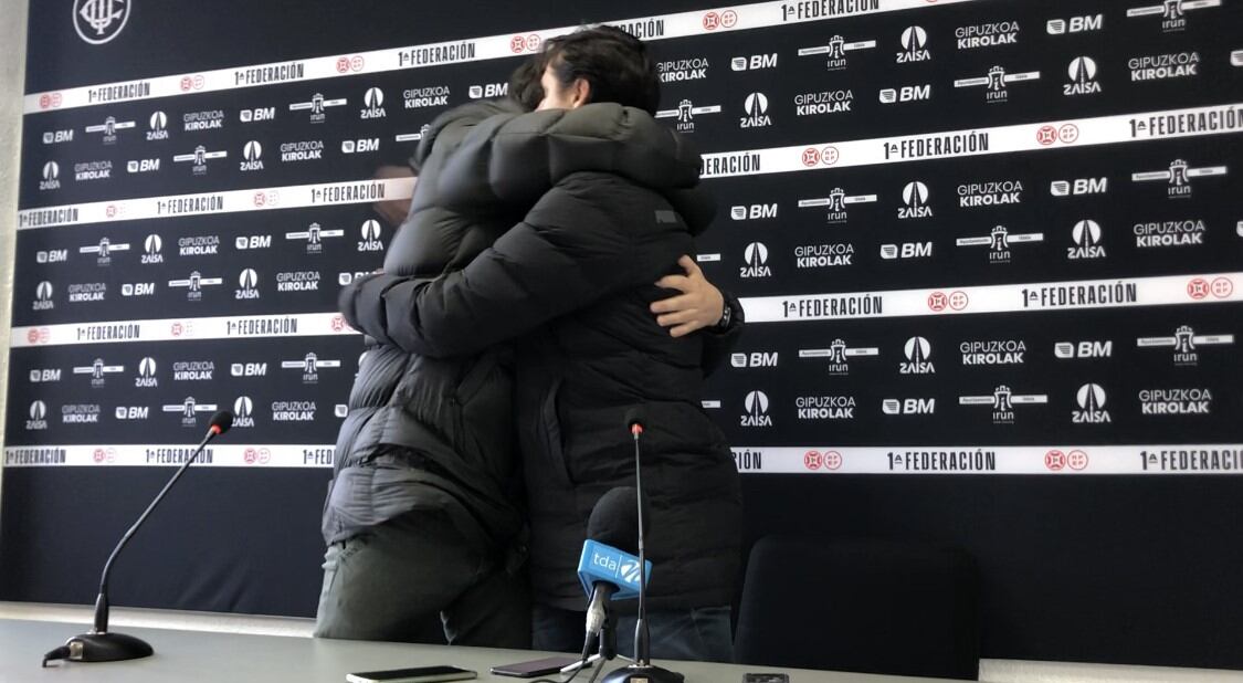
[[[460,269],[513,224],[513,216],[495,210],[467,219],[445,209],[436,194],[441,164],[466,132],[507,111],[518,109],[477,102],[429,127],[411,159],[419,180],[410,213],[389,245],[385,272],[435,277]],[[440,360],[392,343],[367,352],[337,439],[322,521],[327,542],[425,508],[446,511],[474,541],[521,551],[515,542],[523,518],[521,486],[515,485],[508,350],[479,347],[472,353]]]

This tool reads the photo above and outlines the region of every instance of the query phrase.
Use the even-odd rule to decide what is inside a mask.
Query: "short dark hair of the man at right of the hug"
[[[653,116],[660,105],[660,77],[648,47],[622,29],[592,26],[549,39],[543,63],[562,87],[585,80],[592,87],[588,102],[617,102]]]

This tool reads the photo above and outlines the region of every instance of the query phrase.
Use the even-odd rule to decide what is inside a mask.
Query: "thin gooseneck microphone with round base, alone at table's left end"
[[[103,574],[99,576],[99,595],[94,600],[94,627],[91,631],[82,633],[81,636],[73,636],[65,642],[61,647],[44,654],[42,666],[46,667],[47,662],[56,659],[67,659],[72,662],[119,662],[124,659],[139,659],[142,657],[150,657],[154,652],[152,646],[147,642],[135,638],[133,636],[127,636],[124,633],[109,633],[108,632],[108,574],[112,572],[112,562],[116,561],[117,555],[121,554],[121,549],[126,547],[129,539],[133,537],[138,527],[147,521],[148,515],[152,510],[159,505],[160,500],[164,500],[164,495],[168,494],[173,484],[181,478],[186,468],[194,463],[203,453],[203,449],[208,445],[211,439],[224,434],[232,427],[232,413],[229,411],[220,411],[211,416],[211,422],[208,424],[208,434],[203,437],[199,442],[199,447],[194,449],[194,453],[185,460],[173,478],[164,484],[159,494],[155,495],[155,500],[147,506],[147,510],[139,515],[138,521],[126,531],[126,535],[121,537],[121,542],[117,547],[112,549],[112,555],[108,556],[108,561],[103,565]]]

